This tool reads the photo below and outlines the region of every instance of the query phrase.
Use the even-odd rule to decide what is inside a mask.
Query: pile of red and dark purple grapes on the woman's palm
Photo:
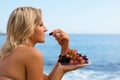
[[[64,56],[59,56],[58,62],[63,65],[87,64],[88,58],[86,55],[78,53],[77,50],[69,49],[67,54],[65,54]]]

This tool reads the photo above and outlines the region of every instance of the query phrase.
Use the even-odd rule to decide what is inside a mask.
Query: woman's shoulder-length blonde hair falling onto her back
[[[34,34],[34,28],[42,22],[40,9],[19,7],[15,9],[8,20],[6,41],[0,51],[0,58],[12,54],[19,45],[26,45],[28,38]]]

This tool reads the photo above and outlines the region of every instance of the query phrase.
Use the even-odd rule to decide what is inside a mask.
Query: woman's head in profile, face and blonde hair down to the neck
[[[43,24],[41,9],[19,7],[15,9],[8,20],[7,40],[14,46],[45,42],[47,28]]]

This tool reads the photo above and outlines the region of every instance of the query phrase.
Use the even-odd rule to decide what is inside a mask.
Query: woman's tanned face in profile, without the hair
[[[47,32],[47,28],[43,24],[43,22],[38,25],[34,30],[34,43],[44,43],[45,42],[45,32]]]

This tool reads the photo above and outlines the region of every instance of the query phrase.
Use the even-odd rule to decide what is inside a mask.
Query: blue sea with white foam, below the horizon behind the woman
[[[66,73],[62,80],[120,80],[120,34],[69,34],[70,48],[86,55],[91,65]],[[0,47],[6,35],[0,35]],[[49,74],[60,54],[56,40],[46,34],[44,44],[35,48],[43,53],[44,73]]]

